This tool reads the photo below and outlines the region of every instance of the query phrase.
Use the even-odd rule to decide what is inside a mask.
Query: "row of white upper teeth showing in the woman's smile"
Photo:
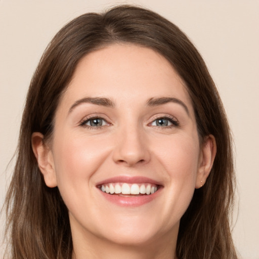
[[[153,184],[127,184],[127,183],[110,183],[104,184],[100,188],[103,192],[110,194],[153,194],[157,191],[157,186]]]

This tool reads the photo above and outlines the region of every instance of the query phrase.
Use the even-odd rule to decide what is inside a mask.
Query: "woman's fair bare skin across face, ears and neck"
[[[78,103],[96,97],[113,106]],[[177,98],[188,111],[176,102],[147,105],[160,97]],[[91,116],[102,126],[82,125]],[[179,125],[156,124],[167,117]],[[85,56],[61,97],[51,143],[42,138],[32,135],[33,151],[46,185],[58,186],[68,207],[74,258],[176,258],[180,219],[216,147],[213,136],[200,145],[186,86],[165,58],[134,45]],[[116,176],[148,177],[162,189],[141,206],[119,206],[96,186]]]

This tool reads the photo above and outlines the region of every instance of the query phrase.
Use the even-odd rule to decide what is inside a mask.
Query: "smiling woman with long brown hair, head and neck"
[[[32,78],[7,195],[12,258],[236,258],[231,136],[185,34],[82,15]]]

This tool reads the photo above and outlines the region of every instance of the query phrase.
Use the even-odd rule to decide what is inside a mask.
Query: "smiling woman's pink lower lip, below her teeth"
[[[100,189],[99,189],[100,190]],[[148,202],[153,201],[161,192],[162,188],[159,188],[155,193],[149,194],[149,195],[142,195],[142,196],[119,196],[119,195],[111,195],[106,192],[103,192],[100,190],[102,193],[103,197],[107,199],[108,201],[115,203],[119,206],[132,206],[132,207],[137,207],[144,205]]]

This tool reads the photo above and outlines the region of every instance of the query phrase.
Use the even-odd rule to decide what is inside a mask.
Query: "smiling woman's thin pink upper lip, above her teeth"
[[[128,183],[128,184],[141,184],[141,183],[150,183],[150,184],[155,184],[155,185],[162,185],[160,182],[147,178],[147,177],[140,177],[140,176],[117,176],[117,177],[112,177],[105,179],[103,181],[98,182],[96,185],[100,186],[103,184],[108,184],[108,183]]]

